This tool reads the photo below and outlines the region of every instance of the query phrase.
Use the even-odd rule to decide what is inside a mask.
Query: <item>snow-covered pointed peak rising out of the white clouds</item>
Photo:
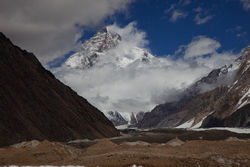
[[[122,50],[122,53],[119,53],[117,48]],[[123,68],[137,61],[148,63],[152,58],[153,56],[147,50],[136,46],[123,49],[122,37],[105,27],[86,40],[79,52],[70,56],[65,64],[70,68],[78,69],[106,64]]]

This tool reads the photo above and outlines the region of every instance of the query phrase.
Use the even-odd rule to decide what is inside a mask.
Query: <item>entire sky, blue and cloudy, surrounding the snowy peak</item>
[[[190,84],[239,56],[250,44],[250,0],[3,0],[0,23],[0,31],[91,104],[129,117],[178,99]],[[139,47],[154,63],[65,67],[104,26],[125,39],[111,55]]]

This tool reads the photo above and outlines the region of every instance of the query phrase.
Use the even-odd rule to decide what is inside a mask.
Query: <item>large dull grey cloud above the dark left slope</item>
[[[2,1],[0,30],[43,64],[75,47],[81,26],[96,26],[132,0]]]

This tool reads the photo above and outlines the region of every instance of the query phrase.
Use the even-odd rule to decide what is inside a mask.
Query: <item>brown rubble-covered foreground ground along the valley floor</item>
[[[163,132],[161,133],[163,134]],[[197,133],[200,135],[203,134],[200,132]],[[217,132],[214,132],[214,134],[213,132],[209,133],[213,136]],[[223,134],[224,132],[221,133]],[[151,139],[154,136],[157,138],[157,135],[159,135],[158,132],[144,132],[143,134],[144,138],[143,135],[136,134],[138,135],[137,137],[141,137],[141,141],[129,133],[124,134],[120,138],[95,141],[79,140],[70,143],[58,143],[34,140],[23,142],[0,149],[0,166],[250,166],[250,140],[248,138],[249,135],[246,134],[239,136],[231,135],[229,137],[225,135],[226,139],[223,140],[181,140],[179,139],[181,137],[177,136],[171,140],[166,140],[166,142],[146,142],[144,140],[148,139],[148,137],[145,137],[146,135],[151,136]],[[128,140],[129,136],[130,140]],[[244,139],[242,136],[244,136]],[[136,140],[132,141],[132,139]],[[163,139],[161,138],[161,140]]]

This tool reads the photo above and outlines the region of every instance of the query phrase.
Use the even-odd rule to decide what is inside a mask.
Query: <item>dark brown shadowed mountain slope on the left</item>
[[[0,33],[0,146],[119,135],[102,112]]]

